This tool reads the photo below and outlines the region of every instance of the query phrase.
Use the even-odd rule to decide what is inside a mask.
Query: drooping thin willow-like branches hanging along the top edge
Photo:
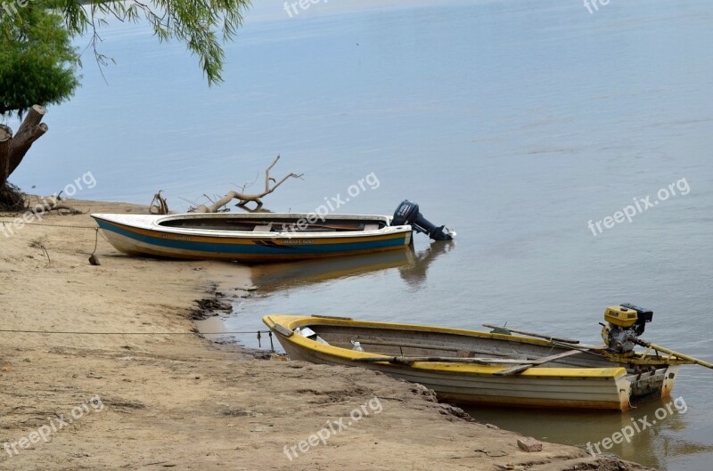
[[[243,12],[250,7],[250,0],[52,1],[64,15],[71,34],[91,35],[94,53],[100,62],[105,58],[96,50],[98,30],[107,19],[135,23],[147,20],[160,41],[174,38],[198,56],[209,85],[223,81],[222,44],[233,39],[242,25]]]

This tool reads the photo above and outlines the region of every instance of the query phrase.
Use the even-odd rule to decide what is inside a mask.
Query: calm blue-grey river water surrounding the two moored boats
[[[265,313],[330,313],[508,321],[595,341],[604,306],[632,302],[654,310],[648,340],[713,361],[713,4],[612,0],[593,14],[579,0],[380,4],[312,4],[289,18],[283,2],[260,2],[213,88],[184,47],[114,25],[102,45],[118,61],[109,85],[85,69],[14,182],[50,193],[91,171],[98,184],[80,197],[148,203],[163,189],[180,209],[254,181],[281,153],[275,174],[305,181],[267,206],[309,211],[373,173],[378,188],[340,211],[390,214],[413,199],[458,231],[455,243],[418,236],[412,254],[260,268],[269,296],[237,303],[226,329],[261,328]],[[670,183],[675,196],[603,227]],[[596,236],[590,220],[602,221]],[[674,395],[687,412],[614,451],[709,468],[711,385],[709,370],[684,368]],[[471,412],[584,445],[660,405]]]

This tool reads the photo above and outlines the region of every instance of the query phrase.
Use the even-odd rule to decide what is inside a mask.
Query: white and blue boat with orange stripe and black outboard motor
[[[94,214],[92,217],[111,245],[128,255],[247,263],[405,248],[412,243],[414,230],[425,231],[433,239],[451,239],[455,235],[443,226],[430,224],[418,213],[418,206],[407,201],[399,206],[394,217],[292,213]]]

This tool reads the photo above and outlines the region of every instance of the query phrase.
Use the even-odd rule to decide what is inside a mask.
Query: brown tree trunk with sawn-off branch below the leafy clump
[[[14,137],[10,127],[0,125],[0,207],[17,204],[17,195],[8,186],[7,179],[20,166],[32,144],[47,132],[47,125],[42,122],[45,113],[43,107],[33,106]]]

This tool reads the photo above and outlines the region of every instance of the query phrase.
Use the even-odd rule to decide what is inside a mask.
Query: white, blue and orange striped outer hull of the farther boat
[[[123,223],[93,215],[114,248],[132,256],[191,260],[281,262],[329,256],[352,256],[405,248],[410,226],[337,234],[191,231],[158,223]]]

